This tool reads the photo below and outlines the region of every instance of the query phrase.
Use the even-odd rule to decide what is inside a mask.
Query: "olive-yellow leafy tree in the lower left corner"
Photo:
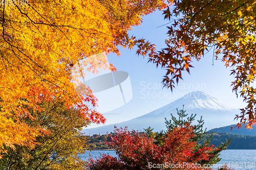
[[[80,132],[90,122],[81,117],[76,108],[67,109],[63,102],[48,101],[39,105],[44,110],[34,112],[34,119],[22,118],[29,127],[47,129],[48,133],[36,137],[35,147],[15,144],[5,146],[0,169],[86,169],[80,157],[89,147],[88,138]]]

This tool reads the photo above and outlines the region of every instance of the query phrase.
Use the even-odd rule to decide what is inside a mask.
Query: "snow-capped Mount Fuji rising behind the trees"
[[[183,105],[184,110],[186,110],[185,113],[188,113],[188,116],[190,114],[197,114],[194,120],[195,124],[197,123],[197,120],[203,116],[203,127],[207,128],[207,130],[236,124],[237,122],[234,120],[234,117],[241,112],[239,109],[228,106],[204,92],[196,91],[190,92],[182,98],[150,113],[115,125],[117,128],[124,128],[127,126],[128,130],[143,131],[144,128],[146,129],[148,127],[154,128],[153,131],[155,132],[166,130],[164,118],[166,117],[167,120],[171,119],[170,113],[177,116],[176,108],[181,110]],[[105,134],[106,132],[113,132],[113,130],[114,124],[83,129],[82,132],[86,133],[86,135],[92,135],[98,133]]]

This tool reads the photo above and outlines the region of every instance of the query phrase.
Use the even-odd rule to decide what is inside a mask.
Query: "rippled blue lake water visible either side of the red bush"
[[[89,153],[93,158],[100,157],[101,154],[109,154],[111,156],[116,156],[115,151],[98,151],[93,150],[92,152],[87,151],[84,156],[90,158]],[[248,169],[256,170],[256,150],[225,150],[221,152],[220,157],[222,158],[220,162],[216,164],[219,167],[223,163],[227,163],[233,166],[235,170],[238,169]],[[251,166],[251,167],[248,167]]]

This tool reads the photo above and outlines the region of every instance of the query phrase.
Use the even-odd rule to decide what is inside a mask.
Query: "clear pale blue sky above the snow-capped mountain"
[[[166,47],[164,40],[167,37],[166,26],[168,25],[159,26],[168,23],[168,20],[163,19],[162,13],[162,11],[156,11],[144,16],[141,26],[134,27],[130,31],[130,35],[149,40],[156,44],[157,50]],[[131,51],[121,49],[120,51],[120,57],[111,54],[108,59],[117,70],[129,73],[133,98],[126,105],[103,114],[107,119],[105,125],[120,123],[149,113],[191,91],[203,91],[235,108],[246,106],[243,99],[237,99],[236,94],[232,92],[230,85],[234,78],[229,76],[230,68],[226,68],[220,60],[215,60],[212,65],[213,49],[199,62],[193,60],[194,68],[190,68],[190,75],[183,72],[183,80],[179,82],[179,86],[173,92],[170,89],[162,89],[161,81],[166,73],[165,69],[157,68],[153,63],[147,63],[147,57],[143,59],[142,56],[136,55],[136,49]],[[98,126],[102,125],[91,125],[88,128]]]

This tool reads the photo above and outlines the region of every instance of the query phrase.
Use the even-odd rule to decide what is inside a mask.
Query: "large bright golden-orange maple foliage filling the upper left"
[[[67,108],[79,108],[86,120],[104,123],[105,118],[87,105],[96,105],[90,89],[76,93],[78,78],[86,76],[86,70],[115,70],[104,55],[119,54],[118,45],[137,45],[138,53],[152,55],[154,45],[127,31],[140,25],[141,16],[165,7],[163,0],[1,3],[0,153],[15,144],[33,147],[36,137],[47,133],[21,121],[34,118],[29,109],[42,111],[41,102],[58,99]]]

